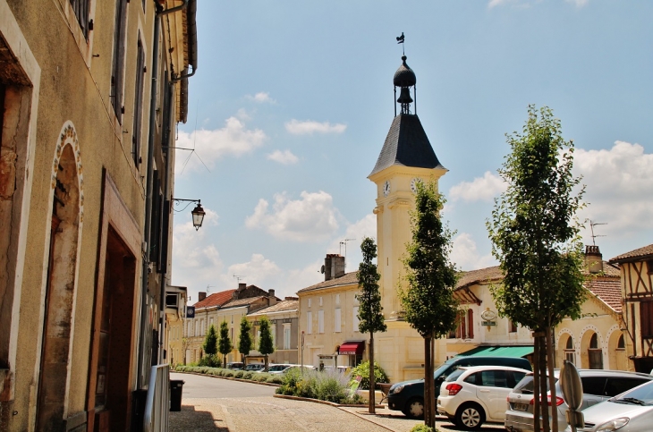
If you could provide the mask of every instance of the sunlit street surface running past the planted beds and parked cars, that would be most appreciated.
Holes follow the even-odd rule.
[[[184,381],[182,411],[170,412],[170,432],[408,432],[420,420],[399,411],[366,408],[338,409],[316,402],[273,398],[276,387],[217,377],[171,373]],[[462,431],[444,417],[437,418],[442,432]],[[505,430],[503,425],[483,425],[480,431]]]

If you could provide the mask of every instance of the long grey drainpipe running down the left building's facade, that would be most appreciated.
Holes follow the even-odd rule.
[[[141,286],[141,299],[140,299],[140,351],[139,351],[139,368],[138,386],[145,386],[148,382],[144,377],[145,365],[145,352],[148,347],[143,346],[146,332],[148,328],[148,275],[149,275],[149,246],[151,235],[151,218],[152,218],[152,177],[154,176],[154,144],[155,144],[155,131],[157,128],[157,77],[158,77],[158,53],[159,53],[159,38],[161,34],[161,17],[168,13],[175,13],[186,8],[190,0],[183,0],[183,4],[170,9],[162,10],[157,6],[157,13],[154,20],[154,43],[152,48],[152,87],[150,90],[150,103],[149,103],[149,131],[148,131],[148,171],[146,175],[146,198],[145,198],[145,221],[143,226],[143,268],[142,268],[142,286]],[[161,299],[162,302],[165,299]],[[161,306],[161,305],[159,305]],[[158,341],[157,341],[158,342]]]

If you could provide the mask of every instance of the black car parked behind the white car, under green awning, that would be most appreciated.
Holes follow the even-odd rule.
[[[454,357],[433,372],[435,380],[435,399],[440,394],[440,385],[454,370],[469,366],[510,366],[530,370],[530,361],[515,357]],[[420,419],[424,416],[424,378],[396,383],[387,394],[387,406],[390,410],[402,411],[407,417]]]

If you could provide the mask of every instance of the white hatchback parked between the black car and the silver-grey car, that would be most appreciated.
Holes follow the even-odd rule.
[[[452,372],[437,397],[437,412],[468,430],[484,422],[505,420],[506,397],[530,370],[508,366],[474,366]]]

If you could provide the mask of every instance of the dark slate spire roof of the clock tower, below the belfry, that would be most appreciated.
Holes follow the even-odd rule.
[[[399,114],[394,117],[381,154],[378,155],[377,165],[369,175],[377,174],[392,165],[445,169],[437,160],[436,152],[433,151],[417,114]]]

